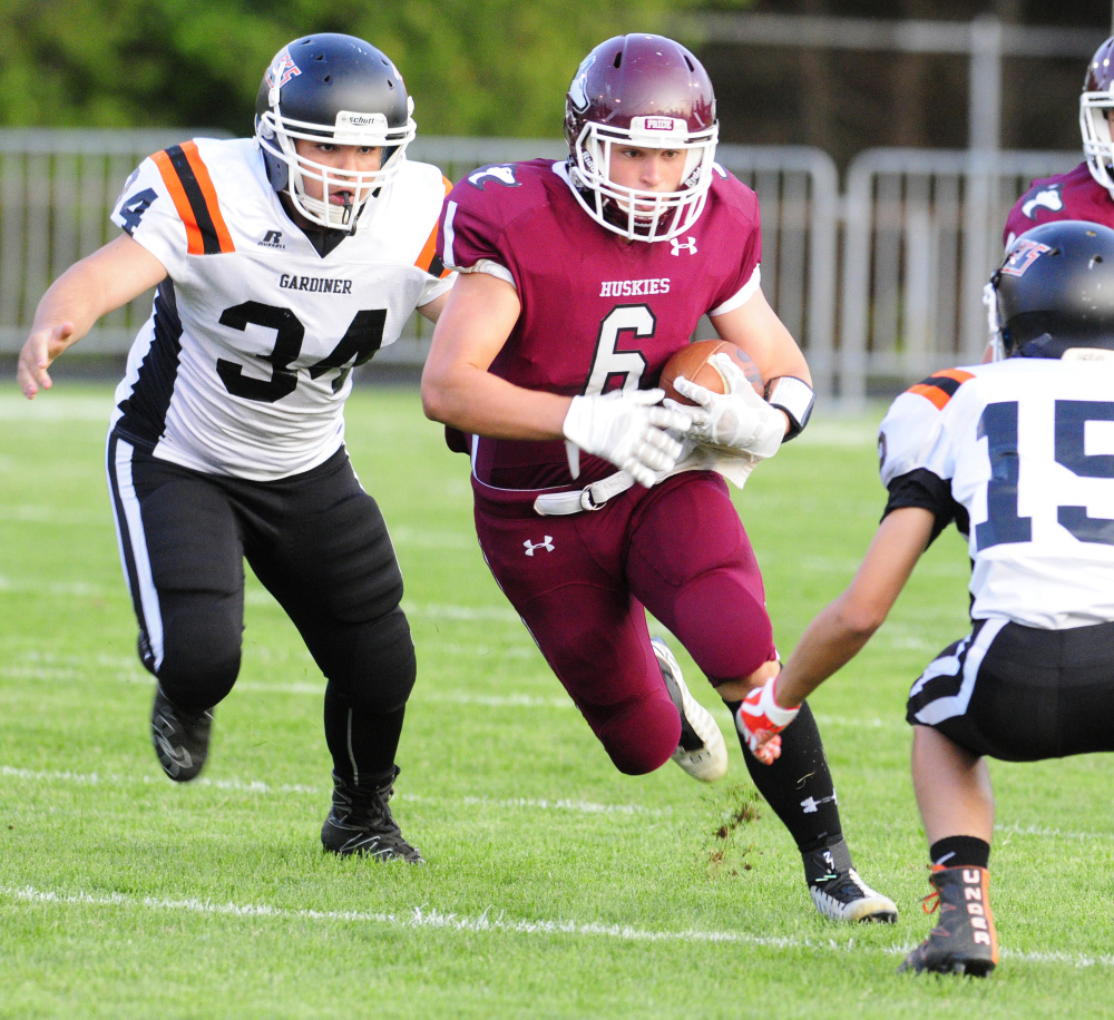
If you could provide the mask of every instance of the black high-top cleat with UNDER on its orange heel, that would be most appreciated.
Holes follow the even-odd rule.
[[[898,972],[985,978],[998,963],[989,872],[985,867],[940,867],[928,881],[936,892],[925,898],[925,912],[939,908],[939,923],[906,957]]]

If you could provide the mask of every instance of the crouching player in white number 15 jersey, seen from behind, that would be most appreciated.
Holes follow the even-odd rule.
[[[987,757],[1114,751],[1114,231],[1081,220],[1016,238],[990,281],[999,360],[937,372],[879,437],[889,501],[848,589],[740,709],[773,759],[801,700],[881,626],[955,521],[971,631],[909,694],[912,778],[940,920],[902,970],[984,975],[998,960]]]

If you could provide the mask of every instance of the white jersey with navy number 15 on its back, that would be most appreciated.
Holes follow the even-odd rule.
[[[938,372],[882,421],[888,509],[955,518],[974,619],[1114,621],[1114,363],[1103,355]]]

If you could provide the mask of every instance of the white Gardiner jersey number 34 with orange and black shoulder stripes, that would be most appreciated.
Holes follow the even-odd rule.
[[[145,159],[113,220],[167,271],[117,388],[113,428],[155,457],[256,481],[344,439],[352,367],[452,279],[436,256],[449,182],[405,163],[321,256],[254,139],[198,138]]]

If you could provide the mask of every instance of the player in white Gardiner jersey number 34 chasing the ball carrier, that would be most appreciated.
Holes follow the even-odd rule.
[[[246,558],[326,677],[334,795],[325,850],[420,862],[391,816],[417,667],[387,524],[344,449],[352,369],[452,276],[434,253],[448,182],[407,160],[413,101],[394,65],[342,35],[275,56],[255,136],[144,160],[124,233],[43,295],[19,356],[28,398],[106,313],[157,287],[116,392],[108,478],[152,738],[193,779],[241,661]]]

